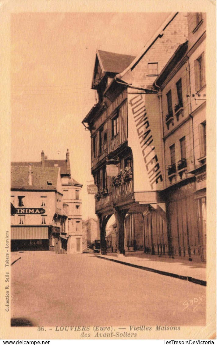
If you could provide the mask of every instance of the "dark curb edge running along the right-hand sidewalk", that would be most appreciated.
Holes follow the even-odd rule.
[[[155,269],[155,268],[134,265],[134,264],[131,264],[131,263],[128,263],[128,262],[119,261],[119,260],[116,260],[116,259],[110,259],[110,258],[102,257],[102,256],[99,256],[99,255],[96,255],[96,257],[98,257],[99,259],[117,262],[117,263],[122,264],[122,265],[136,267],[136,268],[144,269],[145,271],[154,272],[154,273],[158,273],[158,274],[162,274],[162,275],[165,275],[165,276],[169,276],[169,277],[173,277],[173,278],[178,278],[178,279],[182,279],[182,280],[187,280],[188,282],[191,282],[191,283],[195,283],[195,284],[206,286],[206,281],[205,280],[201,280],[201,279],[197,279],[197,278],[193,278],[193,277],[188,277],[188,276],[182,276],[182,275],[171,273],[171,272],[160,271],[160,270]]]

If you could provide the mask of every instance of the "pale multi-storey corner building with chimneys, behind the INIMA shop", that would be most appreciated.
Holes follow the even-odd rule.
[[[11,166],[29,166],[30,162],[12,162]],[[59,169],[60,187],[62,193],[62,212],[66,217],[60,233],[57,231],[50,235],[50,250],[60,252],[61,248],[67,253],[82,253],[82,201],[80,190],[82,185],[71,177],[69,150],[67,149],[66,160],[47,159],[44,152],[41,152],[41,161],[31,162],[32,169],[41,168],[47,171],[48,168]],[[47,177],[47,180],[49,178]]]

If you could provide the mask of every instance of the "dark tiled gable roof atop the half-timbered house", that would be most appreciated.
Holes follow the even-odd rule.
[[[104,72],[120,73],[135,59],[135,56],[111,53],[104,50],[98,50],[97,52]]]

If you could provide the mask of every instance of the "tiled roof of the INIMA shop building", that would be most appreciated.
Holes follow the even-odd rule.
[[[32,183],[29,184],[29,167],[27,165],[11,166],[11,188],[56,190],[59,174],[58,167],[31,167]]]

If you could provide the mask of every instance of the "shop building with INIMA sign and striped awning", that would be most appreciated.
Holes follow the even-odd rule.
[[[49,250],[53,243],[61,252],[62,196],[60,168],[11,167],[11,251]]]

